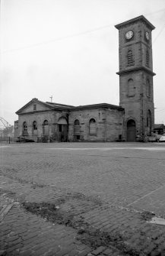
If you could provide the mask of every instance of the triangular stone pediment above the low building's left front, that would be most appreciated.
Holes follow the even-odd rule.
[[[51,109],[54,109],[51,105],[46,104],[45,102],[41,102],[40,100],[34,98],[30,102],[28,102],[26,105],[24,105],[21,109],[19,109],[16,114],[26,114],[31,112],[42,112],[42,111],[49,111]]]

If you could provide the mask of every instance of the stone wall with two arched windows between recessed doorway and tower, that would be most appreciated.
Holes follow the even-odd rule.
[[[90,120],[96,121],[96,132],[90,133]],[[75,136],[75,120],[80,122],[80,136]],[[116,141],[122,134],[123,113],[117,109],[81,109],[69,115],[69,141]]]

